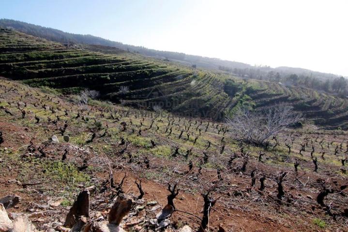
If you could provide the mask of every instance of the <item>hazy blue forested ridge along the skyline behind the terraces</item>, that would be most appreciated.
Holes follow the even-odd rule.
[[[30,23],[25,23],[12,19],[0,19],[0,27],[12,28],[21,31],[26,34],[33,36],[45,38],[47,40],[60,42],[60,43],[81,43],[81,44],[93,44],[93,45],[104,45],[117,47],[119,49],[136,52],[145,56],[157,57],[157,58],[167,58],[174,61],[181,62],[186,65],[196,65],[200,68],[206,69],[219,69],[220,67],[227,67],[228,69],[260,69],[267,72],[281,72],[284,74],[295,73],[297,75],[315,75],[318,78],[336,78],[335,74],[331,73],[320,73],[311,70],[301,69],[301,68],[291,68],[291,67],[255,67],[242,62],[222,60],[219,58],[208,58],[195,55],[188,55],[180,52],[169,52],[169,51],[158,51],[154,49],[145,48],[142,46],[134,46],[129,44],[123,44],[121,42],[110,41],[101,37],[93,35],[81,35],[64,32],[58,29],[46,28]]]

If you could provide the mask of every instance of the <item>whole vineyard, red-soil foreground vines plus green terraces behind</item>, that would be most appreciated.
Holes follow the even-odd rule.
[[[0,231],[347,231],[346,99],[9,29],[0,76]]]

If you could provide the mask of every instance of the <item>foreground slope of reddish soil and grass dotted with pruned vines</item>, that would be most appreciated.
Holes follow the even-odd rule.
[[[180,188],[169,232],[179,232],[184,224],[197,231],[201,194],[208,191],[216,199],[211,231],[219,225],[226,231],[347,231],[347,165],[341,165],[347,159],[347,132],[291,130],[277,135],[277,146],[272,141],[263,150],[231,139],[226,128],[95,100],[81,107],[76,96],[0,78],[0,199],[19,195],[22,200],[8,212],[27,215],[40,231],[69,231],[61,228],[62,222],[86,187],[96,188],[90,219],[107,220],[118,191],[110,183],[111,169],[116,186],[126,175],[121,190],[135,198],[135,181],[142,181],[145,194],[122,221],[129,232],[139,226],[154,231],[151,220],[167,203],[168,183]],[[64,141],[63,135],[69,139]],[[304,142],[306,151],[299,154]],[[318,158],[317,172],[313,157]],[[293,171],[295,161],[298,172]],[[285,195],[278,199],[282,172],[287,173]],[[254,186],[250,173],[255,174]],[[258,181],[262,176],[264,189]],[[333,189],[325,202],[335,216],[316,201],[323,187]]]

